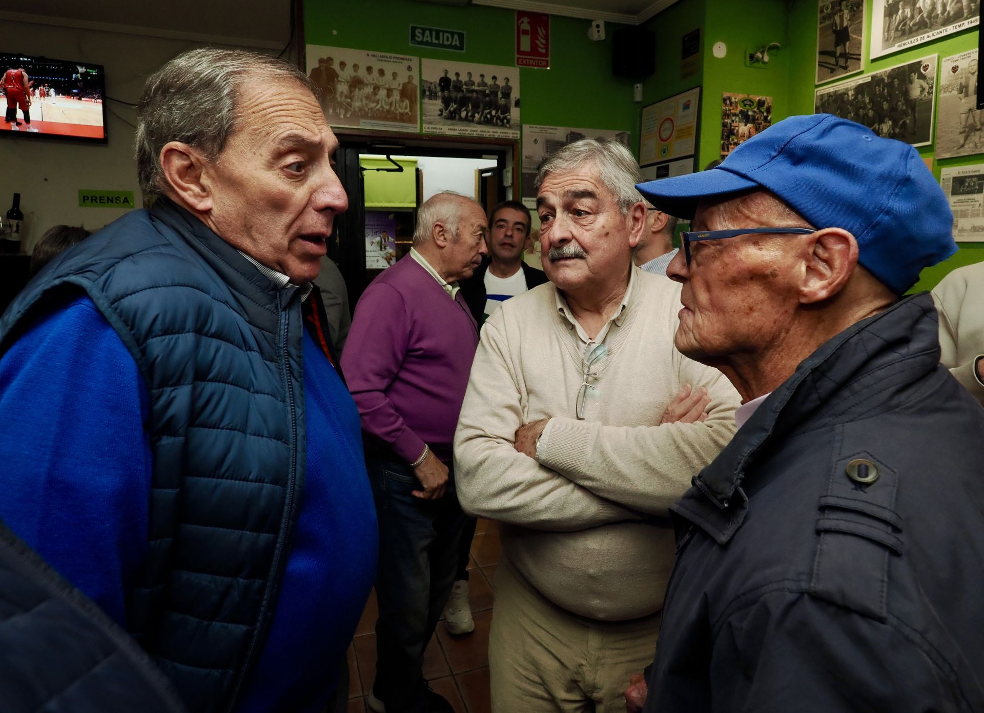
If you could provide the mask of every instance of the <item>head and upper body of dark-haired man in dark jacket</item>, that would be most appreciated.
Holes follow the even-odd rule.
[[[461,294],[479,325],[499,303],[547,282],[542,270],[523,262],[528,234],[529,209],[522,203],[504,201],[492,209],[485,238],[489,258],[474,275],[461,281]]]

